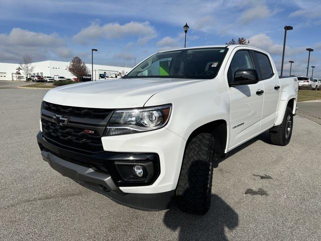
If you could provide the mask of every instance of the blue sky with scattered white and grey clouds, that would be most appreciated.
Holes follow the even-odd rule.
[[[149,55],[184,47],[221,45],[244,37],[268,51],[280,74],[284,26],[284,72],[321,78],[320,0],[0,0],[0,62],[70,61],[132,67]],[[136,58],[136,60],[134,59]],[[309,75],[311,68],[309,69]]]

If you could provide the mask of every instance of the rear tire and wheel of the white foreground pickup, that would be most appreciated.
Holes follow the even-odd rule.
[[[286,146],[289,144],[293,129],[293,114],[290,107],[286,107],[281,125],[270,129],[270,140],[273,145]]]

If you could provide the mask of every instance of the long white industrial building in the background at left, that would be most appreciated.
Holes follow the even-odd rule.
[[[69,62],[62,62],[62,61],[41,61],[33,63],[35,66],[35,70],[32,74],[41,75],[41,76],[64,76],[66,78],[73,79],[73,76],[68,71]],[[91,64],[86,64],[88,69],[91,72]],[[25,80],[26,77],[24,73],[21,73],[23,76],[17,76],[17,68],[19,64],[13,63],[0,63],[0,80]],[[109,66],[109,65],[93,65],[93,73],[94,79],[99,79],[99,74],[106,73],[107,76],[113,76],[115,74],[126,73],[131,68],[126,67],[118,67],[118,66]],[[29,77],[29,76],[28,76]]]

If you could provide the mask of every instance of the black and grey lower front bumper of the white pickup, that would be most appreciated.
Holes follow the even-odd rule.
[[[151,194],[124,193],[120,190],[117,185],[118,183],[114,181],[112,175],[107,172],[101,172],[101,170],[98,170],[94,166],[87,165],[88,161],[93,164],[101,164],[101,162],[119,161],[121,157],[123,157],[123,160],[127,160],[126,154],[103,152],[99,155],[86,155],[73,152],[47,142],[41,132],[37,135],[37,141],[43,159],[57,172],[73,179],[82,186],[101,193],[117,203],[132,208],[154,211],[164,210],[170,207],[175,195],[175,190]],[[150,154],[133,155],[142,155],[139,157],[141,159]],[[133,155],[131,155],[131,159]],[[78,160],[79,163],[75,163],[75,160]]]

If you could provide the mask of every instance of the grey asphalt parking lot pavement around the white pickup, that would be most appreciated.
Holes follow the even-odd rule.
[[[145,212],[42,160],[36,134],[46,91],[0,88],[0,240],[321,240],[320,125],[296,115],[286,147],[263,133],[233,151],[214,169],[204,216]]]

